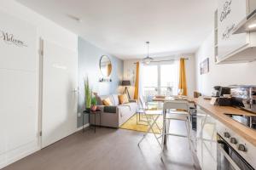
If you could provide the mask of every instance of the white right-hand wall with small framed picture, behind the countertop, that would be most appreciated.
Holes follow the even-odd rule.
[[[199,65],[204,59],[210,59],[210,71],[200,75]],[[212,87],[234,84],[256,85],[256,62],[244,64],[216,65],[214,63],[214,34],[201,44],[195,54],[196,89],[205,95],[212,95]]]

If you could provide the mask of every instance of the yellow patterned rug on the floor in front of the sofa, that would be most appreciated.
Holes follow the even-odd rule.
[[[156,117],[156,116],[154,116]],[[141,120],[146,121],[147,119],[145,117],[141,118]],[[161,116],[158,118],[157,120],[157,124],[160,128],[162,128],[163,125],[163,121]],[[123,125],[121,125],[120,128],[123,129],[128,129],[128,130],[134,130],[134,131],[138,131],[138,132],[148,132],[148,125],[147,122],[138,122],[137,124],[137,114],[134,114],[133,116],[131,116],[131,118],[126,121]],[[154,133],[161,133],[159,128],[154,124]],[[152,130],[150,131],[150,133],[153,133]]]

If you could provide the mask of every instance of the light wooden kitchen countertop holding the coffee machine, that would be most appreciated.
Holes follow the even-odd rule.
[[[201,106],[201,109],[203,111],[206,111],[209,115],[216,118],[219,122],[224,123],[224,125],[230,127],[231,130],[233,130],[244,139],[247,139],[248,142],[256,146],[256,130],[246,127],[241,123],[236,122],[230,117],[224,115],[224,113],[232,113],[237,115],[253,115],[252,113],[242,111],[240,109],[236,109],[235,107],[230,106],[211,105],[209,99],[203,99],[202,97],[191,100],[194,100],[196,105]]]

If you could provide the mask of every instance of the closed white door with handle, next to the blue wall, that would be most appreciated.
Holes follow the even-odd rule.
[[[42,147],[77,128],[78,54],[43,41]]]

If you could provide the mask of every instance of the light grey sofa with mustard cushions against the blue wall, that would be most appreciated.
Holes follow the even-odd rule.
[[[103,99],[109,98],[113,105],[106,106],[102,104]],[[96,96],[97,108],[102,110],[101,126],[120,127],[137,111],[137,100],[130,100],[129,103],[119,105],[118,94]],[[94,124],[94,116],[90,116],[90,124]],[[96,125],[100,125],[100,117],[96,116]]]

